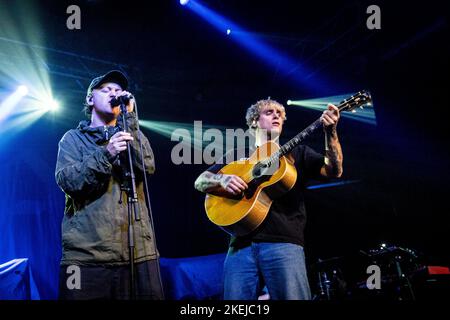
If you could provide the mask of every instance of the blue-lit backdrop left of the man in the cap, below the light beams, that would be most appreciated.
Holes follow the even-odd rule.
[[[38,131],[0,145],[0,264],[28,258],[41,299],[55,299],[64,195],[54,179],[57,141],[44,143]]]

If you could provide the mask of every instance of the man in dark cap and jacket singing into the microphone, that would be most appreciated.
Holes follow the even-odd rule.
[[[120,71],[94,78],[87,90],[84,109],[90,121],[81,121],[59,142],[55,177],[66,195],[60,299],[133,297],[128,198],[124,191],[125,167],[129,163],[128,153],[124,151],[128,145],[140,216],[133,222],[135,297],[163,299],[158,252],[143,186],[144,175],[155,171],[155,162],[148,139],[137,130],[135,102],[127,87],[128,80]],[[112,101],[125,101],[126,114]],[[129,132],[123,131],[124,121]]]

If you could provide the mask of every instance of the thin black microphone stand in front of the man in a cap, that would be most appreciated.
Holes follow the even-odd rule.
[[[121,101],[120,110],[123,115],[123,131],[128,132],[128,124],[126,119],[127,106]],[[134,221],[141,220],[139,210],[137,210],[136,204],[138,202],[138,196],[136,192],[136,177],[133,169],[133,158],[131,155],[131,142],[127,141],[127,154],[128,154],[128,170],[125,170],[125,177],[128,179],[128,184],[124,188],[127,194],[127,207],[128,207],[128,250],[130,259],[130,295],[131,300],[136,299],[135,291],[135,267],[134,267]],[[134,219],[132,213],[134,212]]]

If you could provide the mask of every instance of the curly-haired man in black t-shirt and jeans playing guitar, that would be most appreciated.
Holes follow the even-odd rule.
[[[286,112],[280,103],[260,100],[248,108],[246,121],[254,131],[256,146],[278,141]],[[339,109],[328,105],[320,117],[325,132],[325,156],[308,146],[297,145],[289,154],[298,172],[293,187],[274,199],[264,221],[246,235],[234,235],[224,263],[224,299],[256,300],[266,286],[271,299],[309,300],[311,292],[305,266],[303,199],[310,178],[340,177],[342,150],[336,125]],[[225,164],[215,164],[195,181],[201,192],[233,198],[249,185],[238,175],[222,174]]]

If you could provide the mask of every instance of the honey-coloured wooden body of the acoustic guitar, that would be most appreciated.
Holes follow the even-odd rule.
[[[249,159],[231,162],[219,171],[239,176],[249,189],[234,199],[208,194],[205,210],[214,224],[231,235],[246,235],[264,221],[273,199],[292,189],[297,170],[291,158],[280,157],[278,166],[275,164],[264,175],[255,175],[255,165],[279,149],[278,144],[269,141],[258,147]]]

